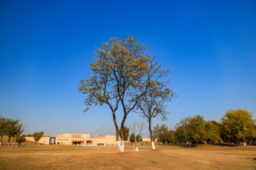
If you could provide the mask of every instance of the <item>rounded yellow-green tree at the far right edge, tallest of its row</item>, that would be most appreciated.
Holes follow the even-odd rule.
[[[243,142],[245,146],[256,136],[255,122],[247,110],[227,110],[221,118],[221,136],[229,142]]]

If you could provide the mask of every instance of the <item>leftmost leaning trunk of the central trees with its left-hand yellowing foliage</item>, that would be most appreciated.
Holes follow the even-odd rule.
[[[108,44],[103,44],[106,46]],[[86,80],[81,80],[80,85],[77,86],[79,92],[86,95],[84,104],[86,105],[85,111],[88,111],[90,106],[102,106],[107,104],[111,110],[113,116],[113,122],[116,130],[116,141],[118,143],[118,149],[120,150],[119,136],[118,136],[118,125],[116,123],[116,110],[120,97],[116,92],[116,83],[112,81],[111,76],[113,73],[109,67],[108,60],[100,55],[100,49],[97,49],[95,62],[90,64],[92,67],[93,74]]]

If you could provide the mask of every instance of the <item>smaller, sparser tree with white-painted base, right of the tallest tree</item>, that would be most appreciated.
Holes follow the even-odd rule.
[[[168,73],[166,73],[166,75],[168,75]],[[156,149],[151,128],[152,118],[158,117],[161,120],[166,120],[168,112],[165,110],[166,106],[164,106],[164,103],[172,101],[172,98],[176,96],[167,86],[168,81],[165,83],[159,81],[150,83],[147,93],[140,97],[135,111],[141,113],[143,118],[148,122],[152,149]]]

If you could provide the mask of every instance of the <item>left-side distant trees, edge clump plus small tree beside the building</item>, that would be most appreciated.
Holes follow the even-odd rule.
[[[25,136],[31,136],[34,137],[35,143],[39,141],[42,136],[44,136],[44,132],[34,132],[34,134],[29,135],[22,135],[22,132],[24,132],[24,125],[20,123],[20,120],[13,120],[11,118],[4,118],[0,115],[0,145],[2,143],[2,139],[4,136],[8,137],[8,143],[7,145],[10,145],[10,141],[12,139],[12,144],[15,143],[22,143],[26,141]]]

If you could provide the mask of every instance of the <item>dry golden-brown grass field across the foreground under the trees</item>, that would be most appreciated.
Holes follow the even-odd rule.
[[[255,146],[0,146],[0,169],[256,169]]]

